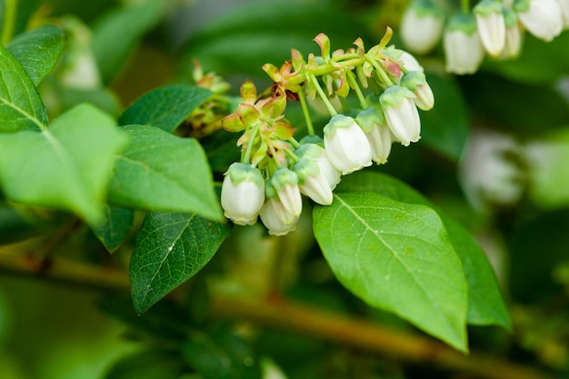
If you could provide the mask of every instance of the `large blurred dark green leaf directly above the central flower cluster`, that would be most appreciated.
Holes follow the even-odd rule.
[[[321,32],[330,37],[333,50],[354,47],[357,37],[366,40],[364,24],[334,4],[255,2],[236,7],[191,35],[184,48],[188,59],[199,59],[208,71],[266,78],[261,67],[267,62],[280,66],[291,58],[291,48],[305,57],[318,53],[313,38]]]

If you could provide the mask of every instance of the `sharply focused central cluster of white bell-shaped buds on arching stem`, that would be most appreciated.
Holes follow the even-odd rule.
[[[222,185],[227,218],[255,224],[260,216],[269,234],[287,234],[302,213],[302,194],[332,204],[342,175],[384,164],[394,142],[419,140],[417,108],[433,107],[433,91],[413,55],[387,45],[391,36],[388,28],[367,51],[358,38],[355,47],[332,52],[320,34],[314,41],[321,55],[304,59],[293,49],[280,68],[263,66],[274,82],[267,91],[258,94],[245,81],[236,112],[222,120],[225,130],[243,134],[237,142],[241,161],[229,167]],[[347,101],[350,95],[358,105]],[[298,101],[304,112],[308,135],[300,141],[284,117],[288,101]],[[331,117],[322,136],[314,133],[309,104]]]

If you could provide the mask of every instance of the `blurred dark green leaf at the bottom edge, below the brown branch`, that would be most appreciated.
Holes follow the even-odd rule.
[[[204,379],[261,379],[255,354],[234,334],[195,333],[182,352],[188,364]]]

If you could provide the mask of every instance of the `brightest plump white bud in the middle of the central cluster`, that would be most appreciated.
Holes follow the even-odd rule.
[[[343,175],[372,165],[372,147],[354,118],[334,115],[324,126],[324,150]]]

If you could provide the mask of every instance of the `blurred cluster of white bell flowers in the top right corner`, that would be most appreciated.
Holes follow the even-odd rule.
[[[446,70],[474,74],[484,55],[514,58],[520,54],[524,32],[551,41],[569,28],[569,0],[480,0],[471,9],[462,0],[460,12],[437,0],[413,0],[401,25],[404,45],[426,54],[443,39]]]

